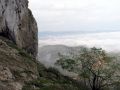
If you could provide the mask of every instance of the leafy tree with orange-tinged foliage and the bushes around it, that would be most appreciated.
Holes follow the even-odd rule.
[[[59,56],[56,64],[77,73],[79,81],[90,90],[120,89],[120,63],[101,48],[83,48],[79,55]]]

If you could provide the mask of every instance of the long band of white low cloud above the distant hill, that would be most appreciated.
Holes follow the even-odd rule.
[[[84,45],[102,47],[107,51],[120,51],[120,32],[80,34],[67,36],[50,36],[39,40],[39,46],[63,44],[68,46]]]

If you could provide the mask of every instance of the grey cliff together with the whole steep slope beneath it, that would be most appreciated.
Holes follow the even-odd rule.
[[[28,1],[0,0],[0,90],[78,90],[74,81],[35,60],[37,42]]]

